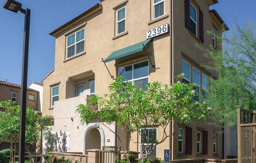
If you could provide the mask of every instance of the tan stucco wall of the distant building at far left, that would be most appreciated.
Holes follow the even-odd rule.
[[[20,105],[21,89],[16,87],[9,87],[6,85],[0,85],[0,101],[11,100],[11,92],[17,93],[17,105]],[[34,100],[29,100],[29,95],[34,96]],[[37,110],[38,106],[38,92],[27,90],[27,107]]]

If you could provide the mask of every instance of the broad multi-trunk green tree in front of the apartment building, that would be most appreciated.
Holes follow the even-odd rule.
[[[182,74],[184,75],[184,74]],[[181,78],[179,75],[178,78]],[[139,143],[143,147],[142,158],[146,160],[153,152],[154,148],[165,141],[171,135],[166,132],[170,120],[187,123],[192,120],[205,120],[207,108],[205,102],[193,101],[195,91],[192,84],[181,82],[172,85],[163,85],[160,82],[148,83],[148,90],[137,89],[131,82],[124,82],[123,77],[118,77],[110,84],[109,94],[104,97],[97,95],[87,98],[88,105],[80,104],[76,112],[80,114],[80,121],[88,125],[92,120],[98,120],[98,125],[104,125],[111,132],[108,125],[117,125],[123,131],[131,134],[138,132],[144,143]],[[146,134],[146,128],[160,128],[163,136]],[[126,154],[124,145],[118,134],[117,138]],[[132,140],[131,140],[132,141]],[[128,156],[128,155],[127,155]],[[130,161],[127,157],[126,159]]]

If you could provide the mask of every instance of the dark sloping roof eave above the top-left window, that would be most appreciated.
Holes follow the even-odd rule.
[[[51,33],[49,33],[49,35],[51,36],[56,36],[60,31],[62,31],[63,29],[65,29],[66,27],[68,27],[70,24],[76,22],[77,20],[79,20],[80,18],[86,16],[87,14],[90,14],[91,12],[97,10],[97,9],[102,9],[102,5],[101,4],[96,4],[93,7],[91,7],[90,9],[84,11],[82,14],[78,15],[77,17],[73,18],[72,20],[66,22],[65,24],[61,25],[60,27],[58,27],[57,29],[53,30]]]

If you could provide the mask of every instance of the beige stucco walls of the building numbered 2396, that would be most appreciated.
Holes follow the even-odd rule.
[[[75,87],[69,87],[68,80],[71,76],[79,75],[83,72],[92,71],[95,78],[95,94],[102,96],[108,93],[108,85],[113,82],[108,74],[104,63],[101,62],[101,58],[107,58],[113,51],[122,49],[129,45],[146,40],[146,31],[158,27],[163,24],[170,24],[170,4],[169,1],[165,1],[165,14],[169,16],[160,20],[158,22],[148,25],[148,22],[152,20],[152,0],[129,0],[126,3],[126,31],[128,34],[113,40],[115,36],[115,10],[112,9],[115,5],[123,2],[123,0],[105,0],[102,2],[103,8],[94,14],[86,17],[77,24],[73,24],[72,27],[65,29],[56,36],[55,44],[55,70],[43,81],[44,82],[44,98],[43,98],[43,115],[53,115],[55,118],[55,125],[53,130],[70,130],[71,139],[70,141],[70,151],[81,152],[83,148],[82,141],[84,132],[86,130],[86,125],[79,124],[79,115],[75,114],[75,107],[79,102],[84,102],[82,97],[73,97],[73,92]],[[206,1],[195,0],[204,13],[204,31],[211,30],[214,22],[215,25],[219,25],[218,21],[210,16],[208,9],[209,6]],[[120,7],[122,7],[121,5]],[[142,7],[143,6],[143,7]],[[170,63],[170,35],[165,34],[153,39],[152,43],[148,44],[146,50],[149,53],[150,59],[156,65],[157,69],[153,69],[149,64],[149,82],[161,81],[164,84],[170,84],[170,66],[172,66],[173,76],[181,73],[181,60],[183,56],[181,53],[186,54],[188,57],[193,58],[194,62],[198,65],[208,63],[208,61],[203,57],[203,53],[197,49],[194,43],[198,40],[192,36],[189,31],[185,28],[185,9],[183,0],[174,0],[173,2],[173,64]],[[82,25],[85,22],[86,25]],[[75,32],[76,27],[85,27],[85,54],[73,58],[67,62],[65,60],[66,54],[66,36]],[[171,24],[170,24],[171,25]],[[71,26],[71,25],[70,25]],[[81,27],[81,28],[82,28]],[[219,29],[218,29],[219,30]],[[218,31],[217,31],[218,32]],[[212,43],[211,36],[205,34],[205,43],[202,44],[204,47],[208,47]],[[118,67],[129,65],[132,63],[141,62],[147,60],[144,52],[133,54],[112,62],[106,63],[110,73],[117,76]],[[197,66],[197,65],[195,65]],[[197,67],[200,69],[200,67]],[[207,74],[207,72],[203,73]],[[212,73],[212,72],[211,72]],[[214,73],[213,73],[214,74]],[[208,74],[209,75],[209,74]],[[216,74],[214,74],[216,75]],[[50,85],[56,82],[60,82],[60,95],[59,100],[56,105],[50,108],[51,99],[51,87]],[[85,82],[87,83],[87,82]],[[85,97],[84,97],[85,98]],[[65,100],[66,99],[66,100]],[[75,105],[76,104],[76,105]],[[71,122],[71,118],[74,118]],[[92,122],[94,124],[95,121]],[[65,124],[65,125],[64,125]],[[65,127],[63,127],[65,126]],[[79,129],[77,129],[77,126]],[[208,142],[209,149],[208,155],[202,156],[207,158],[221,158],[222,151],[221,141],[218,141],[218,153],[219,157],[213,157],[213,152],[211,150],[212,138],[214,128],[205,125],[204,123],[193,123],[193,132],[196,132],[196,127],[204,127],[208,130]],[[114,130],[114,126],[111,126]],[[104,128],[104,127],[102,127]],[[173,126],[173,140],[172,140],[172,158],[177,158],[177,129],[178,126]],[[113,146],[115,142],[115,136],[109,130],[104,130],[105,134],[105,145]],[[169,132],[169,127],[167,127],[167,132]],[[122,138],[128,138],[127,133],[121,132]],[[161,136],[162,130],[159,128],[157,130],[158,136]],[[219,138],[220,137],[220,138]],[[107,142],[107,139],[110,142]],[[132,134],[133,141],[139,140],[139,135],[137,133]],[[218,136],[218,140],[221,140],[221,136]],[[196,141],[196,139],[195,139]],[[81,142],[81,143],[79,143]],[[126,145],[128,142],[126,142]],[[117,142],[120,145],[120,142]],[[193,149],[195,149],[195,143],[193,143]],[[163,150],[169,149],[169,139],[166,139],[164,143],[158,145],[157,147],[157,157],[163,158]],[[138,143],[130,144],[130,150],[140,150]],[[191,156],[187,158],[196,157],[194,152]],[[200,156],[201,157],[201,156]]]

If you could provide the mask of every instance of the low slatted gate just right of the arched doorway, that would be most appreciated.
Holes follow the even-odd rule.
[[[99,151],[99,163],[115,163],[115,159],[120,159],[121,147],[103,146]]]

